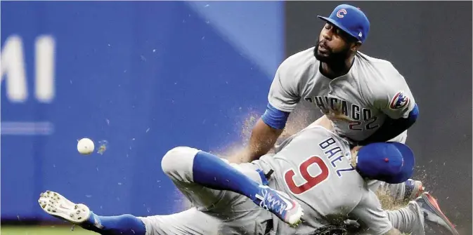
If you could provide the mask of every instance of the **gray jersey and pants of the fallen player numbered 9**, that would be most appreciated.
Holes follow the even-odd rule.
[[[230,165],[260,184],[258,169],[265,173],[275,170],[270,187],[292,195],[304,208],[302,219],[305,222],[299,227],[289,227],[245,196],[208,189],[189,181],[193,177],[193,157],[199,150],[177,147],[163,157],[162,168],[195,207],[172,215],[139,217],[147,234],[266,234],[271,218],[273,231],[268,233],[271,235],[309,234],[346,218],[364,224],[369,228],[367,234],[384,234],[391,229],[391,224],[406,231],[423,231],[418,206],[381,209],[375,194],[351,168],[348,143],[335,133],[320,126],[309,126],[288,138],[282,147],[277,154],[262,156],[252,163]],[[414,216],[407,210],[415,210]]]

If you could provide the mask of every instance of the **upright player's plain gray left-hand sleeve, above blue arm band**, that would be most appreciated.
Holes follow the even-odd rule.
[[[269,104],[283,112],[292,112],[300,100],[295,69],[297,65],[294,65],[292,58],[287,58],[278,67],[269,89]]]

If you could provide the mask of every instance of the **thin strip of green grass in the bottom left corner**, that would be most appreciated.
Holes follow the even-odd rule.
[[[72,226],[6,226],[2,225],[0,228],[1,235],[91,235],[96,234],[92,231],[87,231],[81,227]]]

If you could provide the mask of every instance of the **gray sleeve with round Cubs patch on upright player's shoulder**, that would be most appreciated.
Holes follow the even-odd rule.
[[[407,118],[415,106],[413,94],[399,72],[393,68],[388,69],[387,81],[382,89],[377,89],[375,94],[375,106],[381,109],[391,119]]]

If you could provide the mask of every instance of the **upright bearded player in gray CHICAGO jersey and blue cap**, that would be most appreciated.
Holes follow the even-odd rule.
[[[248,148],[232,162],[250,162],[266,154],[299,102],[320,109],[322,119],[330,119],[334,132],[351,145],[406,142],[407,129],[419,111],[406,80],[391,62],[358,51],[368,36],[368,18],[346,4],[329,17],[318,17],[326,23],[316,46],[278,67],[266,112],[254,126]],[[381,184],[372,182],[372,189]],[[423,190],[422,182],[415,180],[384,187],[398,200],[415,199]]]

